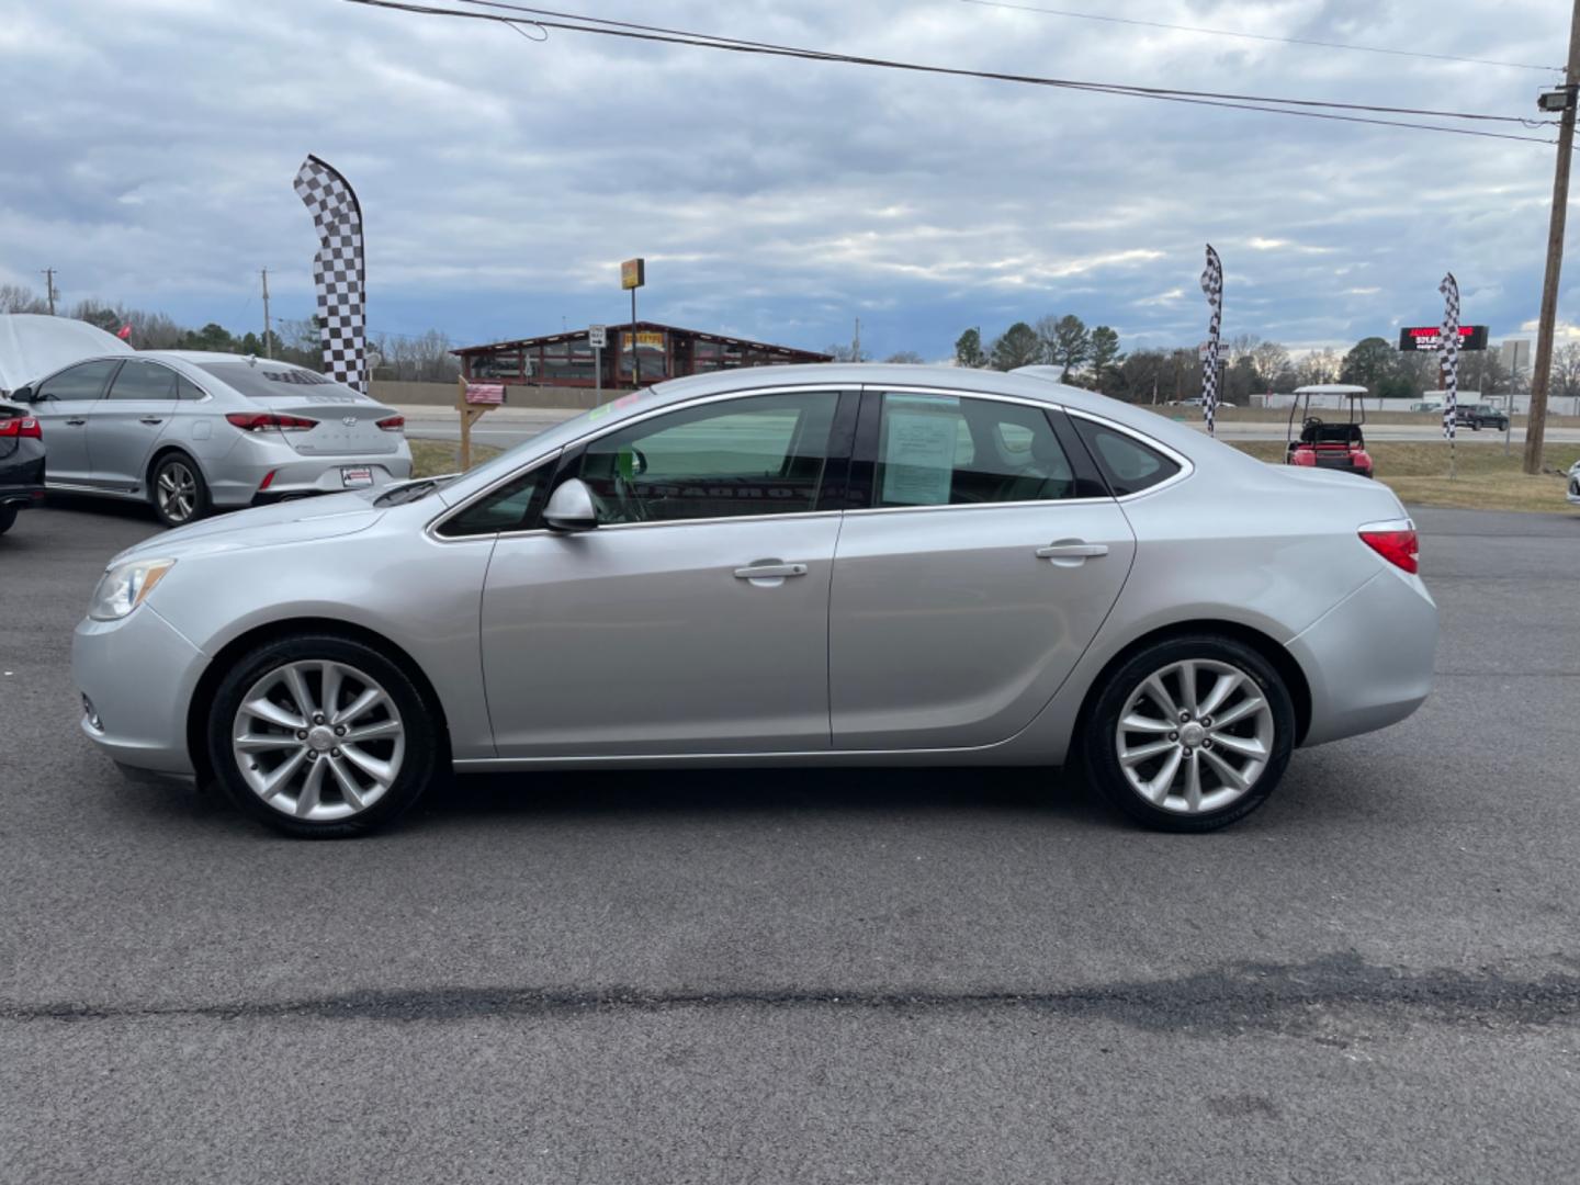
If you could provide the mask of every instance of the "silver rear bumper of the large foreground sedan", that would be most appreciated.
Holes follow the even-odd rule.
[[[1420,577],[1392,567],[1289,641],[1311,690],[1304,744],[1386,728],[1431,690],[1438,605]]]

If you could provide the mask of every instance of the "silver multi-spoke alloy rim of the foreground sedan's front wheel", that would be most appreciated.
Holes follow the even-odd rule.
[[[406,728],[389,694],[341,662],[291,662],[251,686],[231,752],[264,803],[333,822],[360,814],[400,776]]]

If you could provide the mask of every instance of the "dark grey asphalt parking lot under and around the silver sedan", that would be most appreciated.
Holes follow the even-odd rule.
[[[3,1182],[1572,1182],[1580,515],[1417,514],[1433,698],[1206,837],[1036,773],[125,784],[0,537]]]

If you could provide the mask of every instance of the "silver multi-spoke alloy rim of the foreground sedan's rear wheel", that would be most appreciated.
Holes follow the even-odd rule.
[[[1273,713],[1239,667],[1187,659],[1131,692],[1114,743],[1136,793],[1163,811],[1198,815],[1256,785],[1273,749]]]

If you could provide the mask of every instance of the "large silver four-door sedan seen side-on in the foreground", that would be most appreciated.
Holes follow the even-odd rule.
[[[1038,378],[822,365],[156,536],[73,670],[115,762],[297,836],[452,768],[698,765],[1071,765],[1206,831],[1409,716],[1436,634],[1382,485]]]

